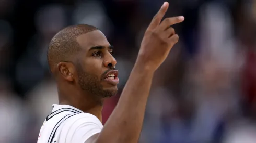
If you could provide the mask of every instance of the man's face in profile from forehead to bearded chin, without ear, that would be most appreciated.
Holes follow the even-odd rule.
[[[77,42],[82,48],[76,64],[80,87],[97,97],[117,94],[117,61],[112,56],[112,46],[104,34],[99,30],[88,32],[78,36]]]

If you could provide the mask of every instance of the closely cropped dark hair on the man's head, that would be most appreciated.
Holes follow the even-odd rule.
[[[72,25],[58,32],[51,40],[48,49],[48,64],[51,72],[61,61],[70,61],[74,59],[75,54],[80,51],[80,45],[77,37],[98,30],[96,27],[87,24]]]

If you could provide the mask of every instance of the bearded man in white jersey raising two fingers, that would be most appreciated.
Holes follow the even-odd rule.
[[[137,142],[154,72],[166,59],[178,35],[170,25],[184,17],[161,21],[169,4],[162,5],[147,28],[141,49],[118,105],[104,127],[103,100],[117,93],[117,61],[104,34],[91,25],[75,25],[57,33],[48,61],[59,93],[59,105],[44,121],[39,143]]]

